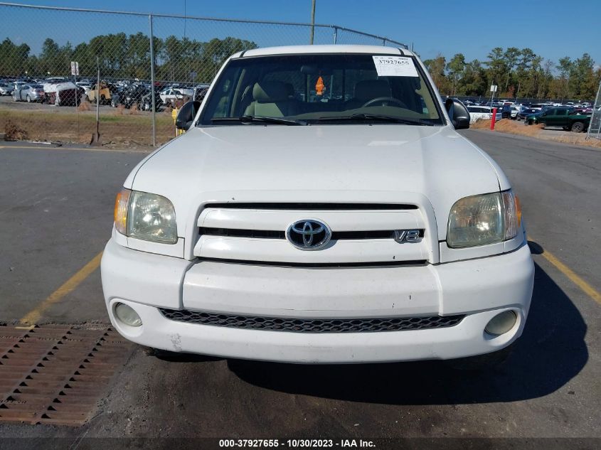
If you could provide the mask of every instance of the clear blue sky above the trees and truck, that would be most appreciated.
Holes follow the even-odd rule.
[[[155,14],[184,14],[185,3],[190,16],[292,22],[309,22],[311,10],[311,0],[30,0],[21,3]],[[532,48],[554,61],[565,55],[578,58],[587,52],[600,65],[601,28],[595,25],[595,18],[601,16],[601,0],[580,0],[577,4],[578,7],[572,8],[566,0],[317,0],[316,23],[334,23],[408,45],[413,43],[422,59],[440,52],[447,58],[454,53],[464,53],[467,60],[484,60],[493,47],[514,46]],[[26,10],[16,11],[23,14]],[[94,22],[75,14],[52,16],[50,21],[38,11],[27,15],[33,16],[28,25],[27,21],[9,20],[9,16],[1,14],[0,39],[9,37],[27,42],[36,51],[39,42],[50,34],[59,43],[78,43],[95,33],[130,33],[147,28],[147,19],[137,17]],[[50,28],[48,23],[56,26]],[[183,21],[166,19],[155,28],[161,37],[181,36]],[[288,37],[284,31],[272,28],[237,26],[230,29],[225,23],[211,28],[186,21],[186,35],[199,40],[205,40],[211,33],[218,37],[236,36],[250,30],[252,40],[259,45],[277,45]],[[294,38],[293,43],[303,43],[307,34],[300,28],[286,33]],[[320,38],[329,40],[330,31],[321,31]]]

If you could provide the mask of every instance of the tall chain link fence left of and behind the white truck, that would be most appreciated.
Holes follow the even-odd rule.
[[[97,110],[105,144],[156,146],[174,136],[172,109],[202,100],[240,50],[308,44],[311,34],[315,44],[406,48],[335,25],[4,2],[0,16],[0,129],[16,139],[89,141]]]

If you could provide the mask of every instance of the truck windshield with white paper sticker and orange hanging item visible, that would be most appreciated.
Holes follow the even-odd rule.
[[[280,120],[254,120],[265,117]],[[230,60],[198,123],[433,125],[441,117],[413,58],[336,53]]]

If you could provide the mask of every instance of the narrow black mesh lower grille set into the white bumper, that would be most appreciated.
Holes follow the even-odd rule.
[[[289,331],[292,333],[366,333],[446,328],[457,325],[465,317],[288,318],[240,316],[185,309],[160,308],[159,311],[166,318],[178,322],[248,330]]]

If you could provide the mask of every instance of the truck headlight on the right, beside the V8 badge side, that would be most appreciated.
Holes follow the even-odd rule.
[[[515,237],[520,225],[521,208],[513,192],[472,195],[451,208],[447,245],[461,248],[503,242]]]

